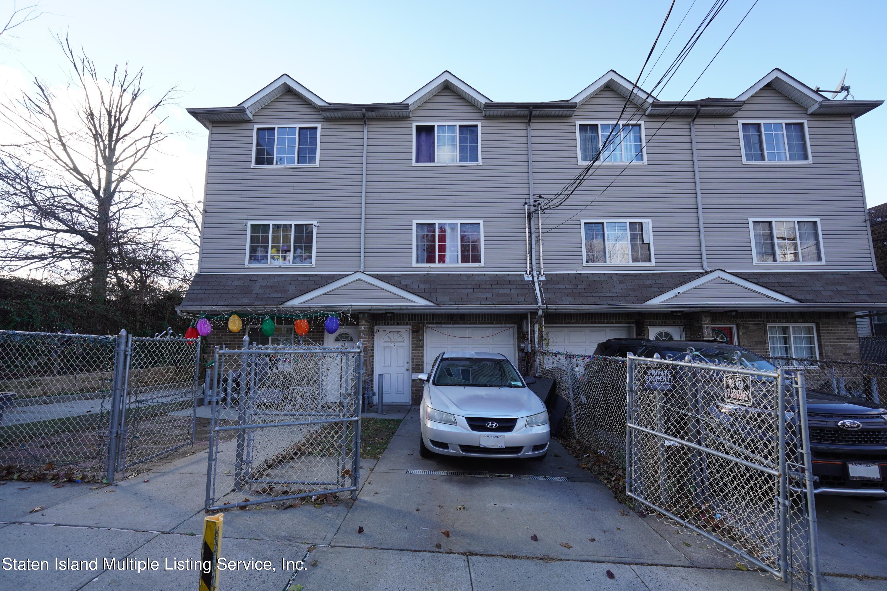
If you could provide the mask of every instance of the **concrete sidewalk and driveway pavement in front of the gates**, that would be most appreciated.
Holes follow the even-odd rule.
[[[705,548],[698,538],[655,517],[639,517],[578,469],[577,460],[557,442],[543,462],[424,460],[418,433],[413,410],[378,463],[361,461],[361,489],[353,505],[343,500],[319,509],[306,503],[294,509],[259,505],[226,511],[223,555],[271,560],[273,570],[223,572],[220,588],[283,591],[293,583],[305,591],[791,588],[757,572],[736,570],[734,557]],[[0,569],[0,589],[196,587],[197,572],[162,568],[164,558],[200,554],[206,467],[207,452],[200,450],[117,486],[55,488],[15,481],[0,486],[0,560],[98,558],[100,567]],[[239,495],[232,494],[232,499],[239,501]],[[846,503],[858,509],[848,514],[841,509]],[[820,533],[825,571],[859,570],[853,574],[874,576],[883,572],[883,533],[877,530],[884,525],[883,504],[823,503],[820,520],[830,525],[828,533]],[[358,533],[360,527],[363,533]],[[854,559],[849,540],[860,536],[867,546],[861,558]],[[159,560],[161,570],[101,568],[103,558],[112,556]],[[304,558],[306,568],[284,568],[283,558]],[[885,584],[885,579],[825,579],[828,590],[874,591]]]

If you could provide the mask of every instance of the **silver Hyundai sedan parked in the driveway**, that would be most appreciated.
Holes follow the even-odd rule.
[[[448,352],[437,356],[420,404],[419,454],[542,459],[548,412],[505,355]]]

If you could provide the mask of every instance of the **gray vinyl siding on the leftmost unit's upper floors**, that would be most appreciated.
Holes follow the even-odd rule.
[[[253,168],[253,128],[316,124],[319,167]],[[360,259],[361,121],[324,121],[286,92],[254,121],[213,124],[208,151],[201,273],[349,272]],[[317,220],[315,267],[246,267],[251,221]]]

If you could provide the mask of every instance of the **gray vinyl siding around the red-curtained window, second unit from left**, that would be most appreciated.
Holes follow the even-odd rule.
[[[413,124],[422,122],[479,122],[482,163],[413,166]],[[526,120],[484,119],[443,89],[410,119],[371,120],[366,164],[366,272],[521,273],[526,267]],[[413,267],[414,220],[483,220],[483,267]]]

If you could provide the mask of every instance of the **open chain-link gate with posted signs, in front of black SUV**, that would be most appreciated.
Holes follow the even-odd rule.
[[[629,496],[820,588],[802,373],[630,355],[626,398]]]

